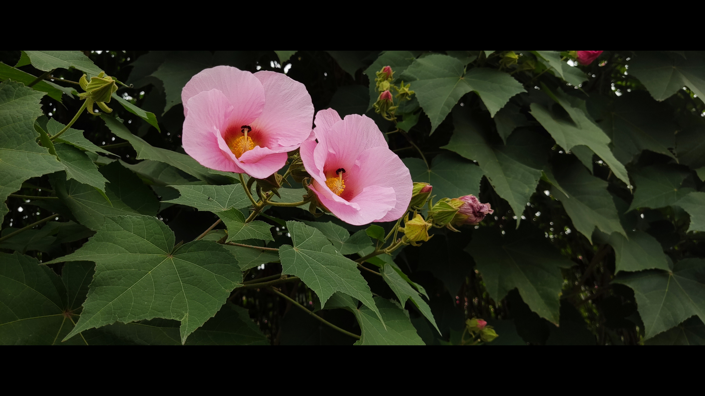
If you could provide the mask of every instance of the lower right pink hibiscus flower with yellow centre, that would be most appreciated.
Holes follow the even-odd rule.
[[[316,114],[315,124],[300,153],[319,202],[353,225],[403,216],[411,201],[411,175],[374,121],[357,114],[343,120],[327,109]]]

